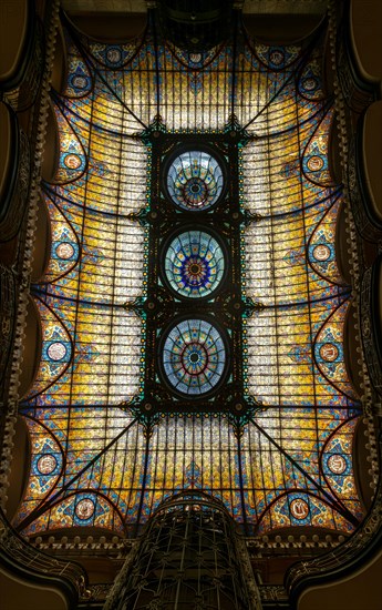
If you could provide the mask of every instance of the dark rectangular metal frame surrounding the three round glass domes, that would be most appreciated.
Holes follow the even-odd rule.
[[[151,151],[149,211],[141,222],[148,230],[146,298],[138,298],[126,305],[146,322],[146,355],[143,397],[135,399],[133,407],[137,415],[152,417],[161,413],[198,414],[221,413],[231,415],[235,421],[254,414],[258,406],[245,394],[242,363],[242,318],[258,306],[241,294],[242,244],[241,227],[249,221],[241,210],[239,197],[239,148],[248,141],[233,119],[224,132],[216,133],[168,133],[157,118],[143,134]],[[165,176],[169,163],[186,150],[203,150],[215,155],[224,171],[224,186],[216,204],[206,211],[179,210],[169,199]],[[228,253],[226,276],[211,298],[187,299],[174,296],[174,291],[163,282],[164,244],[175,231],[199,227],[216,234]],[[179,397],[166,384],[159,360],[163,335],[175,321],[189,317],[205,317],[221,329],[227,338],[227,383],[198,397]],[[235,355],[235,357],[233,356]],[[224,380],[223,378],[223,380]],[[224,405],[224,407],[223,407]]]

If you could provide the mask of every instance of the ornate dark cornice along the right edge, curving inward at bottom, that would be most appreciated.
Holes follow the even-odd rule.
[[[348,7],[349,8],[349,7]],[[352,210],[350,206],[350,194],[347,187],[347,175],[349,171],[349,112],[351,110],[345,104],[344,93],[339,80],[338,64],[338,44],[337,34],[339,26],[337,21],[338,6],[334,0],[329,1],[329,37],[331,62],[334,74],[334,95],[337,119],[340,133],[340,155],[343,172],[343,197],[345,203],[345,223],[348,234],[348,254],[351,262],[352,276],[352,297],[357,306],[358,338],[361,335],[361,289],[363,276],[363,263],[361,258],[361,244],[358,235]],[[371,101],[370,101],[371,103]],[[372,390],[372,384],[369,377],[369,372],[365,363],[365,354],[363,347],[360,347],[360,357],[362,362],[362,384],[363,394],[361,396],[363,410],[365,415],[365,424],[369,434],[369,460],[372,465],[372,482],[371,486],[375,489],[373,505],[366,515],[364,521],[355,530],[355,532],[338,546],[329,553],[324,553],[316,559],[298,562],[292,566],[286,575],[286,589],[289,593],[291,602],[297,606],[297,601],[303,590],[312,586],[320,586],[333,580],[338,580],[351,575],[357,568],[366,563],[376,551],[381,548],[382,542],[382,481],[378,471],[378,456],[382,455],[382,413],[375,404],[375,396]],[[375,437],[379,437],[376,441]]]

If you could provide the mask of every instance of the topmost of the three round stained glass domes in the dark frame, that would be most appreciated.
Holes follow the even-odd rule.
[[[209,210],[223,193],[223,169],[206,151],[186,151],[169,165],[166,185],[169,197],[182,210]]]

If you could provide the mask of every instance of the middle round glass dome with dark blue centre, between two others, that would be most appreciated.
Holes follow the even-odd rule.
[[[180,296],[209,296],[221,283],[226,261],[216,237],[206,231],[184,231],[165,251],[165,276]]]

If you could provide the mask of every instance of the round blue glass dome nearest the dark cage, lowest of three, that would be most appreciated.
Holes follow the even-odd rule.
[[[220,332],[200,318],[175,324],[163,344],[162,364],[173,388],[198,397],[215,389],[224,378],[226,347]]]

